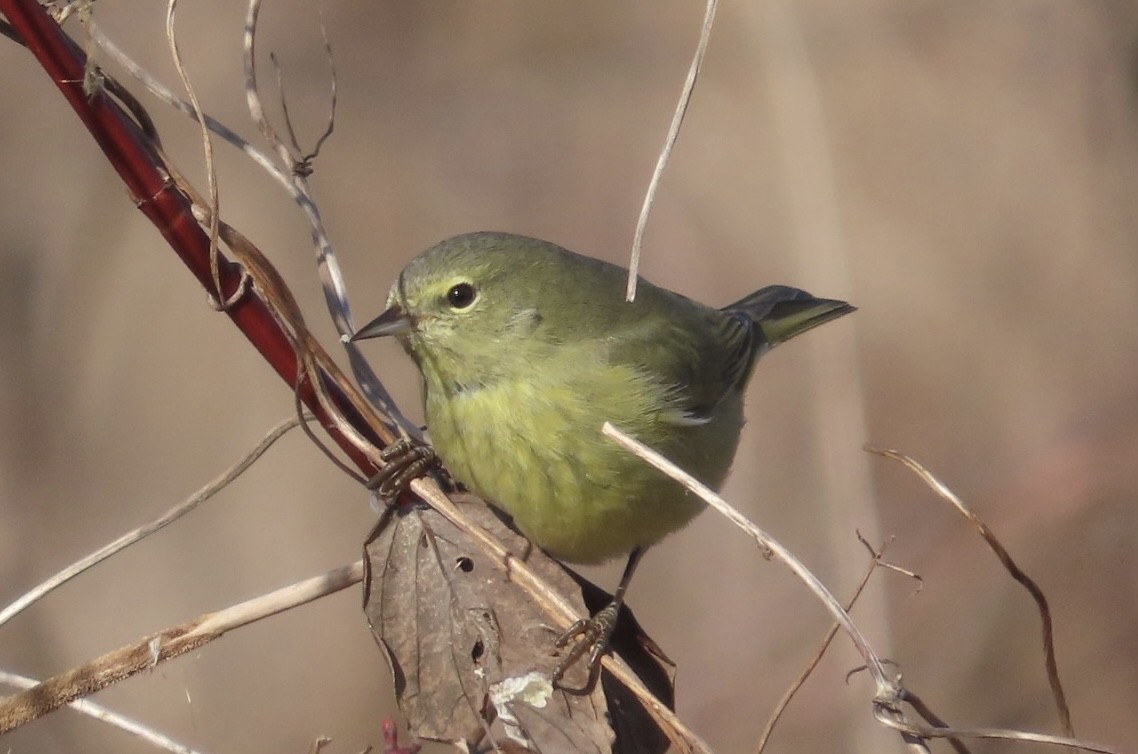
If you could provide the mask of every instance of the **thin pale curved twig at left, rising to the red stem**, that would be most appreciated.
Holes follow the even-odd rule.
[[[98,563],[101,563],[102,561],[107,560],[115,553],[126,549],[134,542],[138,542],[149,537],[156,531],[178,521],[190,511],[197,508],[199,505],[201,505],[211,497],[220,492],[222,489],[224,489],[234,479],[245,473],[245,470],[251,466],[257,458],[264,455],[265,450],[267,450],[286,432],[288,432],[290,429],[292,429],[299,423],[300,422],[297,419],[287,419],[280,422],[279,424],[270,429],[269,432],[265,433],[265,437],[262,438],[261,442],[258,442],[255,448],[245,454],[241,458],[237,461],[237,463],[226,469],[224,472],[222,472],[218,477],[216,477],[208,484],[199,489],[197,492],[195,492],[187,499],[182,500],[174,507],[170,508],[154,521],[142,524],[141,527],[126,532],[118,539],[108,542],[107,545],[104,545],[102,547],[94,550],[90,555],[75,561],[64,570],[52,575],[50,579],[41,582],[34,589],[31,589],[30,591],[17,598],[10,605],[0,611],[0,625],[3,625],[13,618],[22,613],[24,610],[26,610],[28,606],[42,599],[48,594],[59,588],[71,579],[74,579],[83,571],[86,571],[88,569],[97,565]]]

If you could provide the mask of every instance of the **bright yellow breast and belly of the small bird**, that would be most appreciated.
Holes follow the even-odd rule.
[[[445,397],[428,391],[428,429],[451,473],[509,513],[534,544],[562,560],[596,563],[654,544],[703,508],[604,438],[604,421],[715,488],[742,426],[737,396],[708,423],[682,425],[659,409],[660,395],[625,390],[615,400],[609,388],[502,381]]]

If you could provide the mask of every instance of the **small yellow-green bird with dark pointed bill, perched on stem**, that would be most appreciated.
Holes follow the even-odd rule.
[[[717,309],[644,280],[628,303],[627,277],[547,241],[468,233],[407,264],[353,337],[399,340],[438,456],[535,545],[574,563],[632,554],[618,606],[644,548],[703,503],[602,436],[604,422],[718,489],[756,361],[853,310],[784,285]]]

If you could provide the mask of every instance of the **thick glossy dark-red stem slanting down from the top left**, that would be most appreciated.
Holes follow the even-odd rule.
[[[83,51],[64,34],[35,0],[0,0],[0,10],[19,32],[27,49],[36,57],[94,136],[107,159],[123,179],[138,208],[150,218],[205,289],[213,291],[208,237],[193,219],[189,201],[166,179],[159,161],[149,149],[147,138],[135,123],[101,90],[91,96],[83,91],[86,59]],[[220,273],[222,295],[229,297],[239,284],[240,267],[222,257]],[[295,387],[296,353],[264,301],[250,291],[241,296],[226,314],[281,379],[290,388]],[[344,397],[337,384],[327,379],[327,374],[322,376],[332,403],[341,414],[360,431],[371,437],[372,432],[366,422]],[[364,474],[376,473],[376,467],[366,456],[337,430],[327,412],[320,406],[307,381],[300,386],[300,399]]]

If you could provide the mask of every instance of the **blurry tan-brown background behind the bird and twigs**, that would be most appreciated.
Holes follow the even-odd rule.
[[[1138,748],[1138,9],[1129,3],[727,2],[645,242],[643,273],[708,303],[761,284],[852,317],[764,361],[726,497],[840,594],[855,528],[924,577],[855,611],[958,724],[1055,731],[1039,627],[960,520],[863,442],[960,494],[1052,599],[1074,721]],[[174,81],[160,3],[97,6]],[[205,107],[249,138],[244,9],[183,2]],[[328,3],[336,134],[313,184],[358,322],[415,252],[510,230],[622,260],[701,5]],[[315,11],[267,3],[259,49],[322,127]],[[800,36],[797,36],[800,35]],[[795,39],[801,42],[797,45]],[[206,306],[31,57],[0,43],[0,604],[214,477],[291,395]],[[266,68],[267,71],[267,68]],[[141,91],[134,86],[135,91]],[[159,127],[200,182],[196,129]],[[308,233],[218,147],[223,214],[274,259],[325,345]],[[368,347],[419,416],[412,368]],[[0,629],[0,666],[44,677],[358,557],[374,514],[299,434],[216,500]],[[612,585],[616,567],[592,571]],[[714,515],[646,558],[630,602],[679,665],[681,715],[753,746],[827,625],[784,569]],[[358,589],[237,631],[96,698],[207,752],[381,745],[390,679]],[[842,647],[773,752],[900,751]],[[149,752],[61,711],[11,752]],[[983,744],[976,752],[1013,751]],[[1028,751],[1026,748],[1015,751]]]

